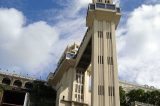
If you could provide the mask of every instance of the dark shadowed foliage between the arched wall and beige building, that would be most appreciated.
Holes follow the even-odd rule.
[[[55,106],[56,91],[45,82],[34,81],[30,98],[32,106]]]

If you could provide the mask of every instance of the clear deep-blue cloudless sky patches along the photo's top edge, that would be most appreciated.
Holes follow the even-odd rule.
[[[67,0],[64,0],[66,2]],[[88,0],[89,1],[89,0]],[[51,17],[48,17],[48,12],[55,13],[58,10],[62,10],[67,6],[66,4],[58,3],[56,0],[0,0],[1,8],[15,8],[22,11],[24,16],[29,20],[28,22],[34,21],[46,21],[48,24],[54,24],[55,21],[50,21]],[[72,2],[72,1],[71,1]],[[122,0],[120,6],[122,11],[130,12],[133,11],[138,6],[145,4],[145,0]],[[70,3],[68,3],[70,4]],[[83,8],[86,12],[86,8]],[[47,15],[47,16],[46,16]],[[85,14],[81,14],[85,15]],[[54,17],[52,17],[54,19]]]

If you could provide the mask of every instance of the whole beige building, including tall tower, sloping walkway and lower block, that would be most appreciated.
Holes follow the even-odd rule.
[[[57,89],[57,106],[120,106],[115,39],[120,17],[112,0],[89,4],[88,29],[79,49],[77,45],[67,48],[54,75],[49,76]]]

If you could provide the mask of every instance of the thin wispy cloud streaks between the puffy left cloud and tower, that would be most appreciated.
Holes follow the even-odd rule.
[[[56,26],[60,36],[57,42],[59,49],[57,50],[55,63],[57,63],[68,44],[73,44],[74,42],[80,44],[87,28],[85,17],[87,6],[90,2],[91,0],[60,0],[57,3],[61,6],[61,9],[55,10],[53,8],[44,11],[43,14],[46,14],[45,16],[48,20],[55,22],[54,26]],[[81,13],[84,9],[85,12]]]

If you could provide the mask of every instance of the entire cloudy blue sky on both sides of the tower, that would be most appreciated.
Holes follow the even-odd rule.
[[[0,0],[1,72],[45,79],[65,47],[81,42],[89,2]],[[122,10],[116,34],[119,78],[160,87],[160,1],[115,2]]]

